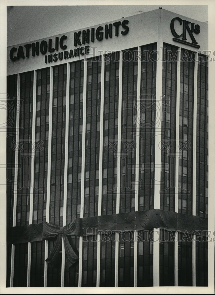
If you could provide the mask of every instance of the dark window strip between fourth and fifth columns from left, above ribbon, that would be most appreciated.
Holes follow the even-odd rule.
[[[66,223],[80,217],[84,61],[70,64],[69,151]],[[80,177],[79,177],[80,176]],[[77,276],[77,275],[76,275]],[[68,282],[71,284],[71,281]]]

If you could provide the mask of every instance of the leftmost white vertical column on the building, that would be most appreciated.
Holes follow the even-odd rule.
[[[17,74],[17,119],[16,119],[16,150],[15,150],[15,169],[14,169],[14,204],[13,204],[13,227],[16,226],[17,215],[17,181],[18,181],[18,160],[19,160],[19,113],[20,113],[20,74]],[[11,248],[11,269],[10,269],[10,287],[13,287],[14,276],[14,253],[15,245]]]

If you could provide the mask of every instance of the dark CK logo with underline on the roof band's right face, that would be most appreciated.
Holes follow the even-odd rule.
[[[175,27],[174,27],[175,21],[178,21],[180,25],[183,25],[182,33],[180,35],[178,35],[177,32],[175,31]],[[175,36],[175,38],[172,38],[173,41],[187,44],[187,45],[190,45],[190,46],[193,46],[196,48],[200,48],[200,46],[197,45],[198,42],[196,42],[196,39],[193,36],[193,33],[194,34],[200,33],[200,26],[198,24],[194,24],[193,22],[188,22],[185,19],[182,20],[180,17],[174,17],[170,23],[170,30],[172,32],[172,35]],[[186,41],[187,40],[187,33],[190,36],[190,39],[192,40],[192,42]],[[181,39],[179,39],[179,38],[181,38]]]

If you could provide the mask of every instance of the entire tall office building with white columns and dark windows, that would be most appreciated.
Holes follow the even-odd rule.
[[[157,9],[8,47],[6,286],[208,286],[207,44]]]

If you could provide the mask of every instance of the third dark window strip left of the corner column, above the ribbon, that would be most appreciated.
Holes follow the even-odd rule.
[[[119,52],[105,57],[102,215],[116,213]],[[117,107],[116,107],[117,106]],[[101,274],[106,277],[106,274]]]

